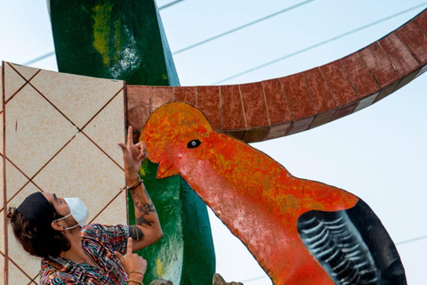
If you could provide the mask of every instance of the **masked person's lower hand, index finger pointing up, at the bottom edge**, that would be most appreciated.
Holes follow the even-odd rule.
[[[143,274],[145,274],[145,271],[147,270],[147,260],[141,256],[138,256],[136,253],[132,253],[132,238],[127,240],[127,250],[125,256],[122,256],[117,251],[114,252],[114,255],[117,256],[120,264],[122,265],[123,269],[125,269],[127,274],[130,274],[131,272],[141,273],[132,273],[132,278],[129,277],[130,279],[142,281],[144,277]]]

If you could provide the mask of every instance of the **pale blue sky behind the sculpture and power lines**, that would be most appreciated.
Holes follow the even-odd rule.
[[[157,4],[170,2],[159,0]],[[176,52],[295,4],[302,5],[175,54],[181,85],[212,85],[284,57],[222,84],[260,81],[310,69],[359,50],[427,7],[427,2],[414,0],[184,0],[160,13],[171,50]],[[0,11],[0,60],[23,63],[53,50],[44,0],[2,0]],[[403,13],[354,31],[399,12]],[[342,36],[350,31],[354,32]],[[301,52],[338,36],[342,37]],[[33,66],[57,70],[53,56]],[[411,285],[425,284],[427,265],[427,239],[402,243],[427,236],[426,78],[424,74],[383,101],[333,123],[253,144],[295,176],[331,184],[364,199],[398,244]],[[227,281],[270,284],[251,254],[222,222],[211,215],[211,223],[217,272]]]

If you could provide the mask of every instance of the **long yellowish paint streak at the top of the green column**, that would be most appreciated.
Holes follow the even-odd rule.
[[[93,7],[93,48],[101,53],[102,61],[109,67],[109,22],[111,19],[111,4],[97,4]]]

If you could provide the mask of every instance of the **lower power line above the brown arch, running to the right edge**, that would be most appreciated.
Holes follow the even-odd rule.
[[[329,38],[329,39],[326,39],[325,41],[320,42],[320,43],[318,43],[318,44],[316,44],[316,45],[310,45],[310,46],[308,46],[308,47],[306,47],[306,48],[303,48],[303,49],[301,49],[301,50],[299,50],[299,51],[296,51],[296,52],[294,52],[294,53],[289,53],[289,54],[286,54],[285,56],[279,57],[279,58],[278,58],[278,59],[276,59],[276,60],[268,61],[268,62],[266,62],[266,63],[263,63],[263,64],[261,64],[261,65],[258,65],[258,66],[254,67],[254,68],[252,68],[252,69],[246,69],[245,71],[239,72],[238,74],[235,74],[235,75],[233,75],[233,76],[223,78],[222,80],[220,80],[220,81],[217,81],[217,82],[213,83],[213,85],[218,85],[218,84],[220,84],[220,83],[222,83],[222,82],[228,81],[228,80],[233,79],[233,78],[236,78],[236,77],[240,77],[240,76],[242,76],[242,75],[245,75],[245,74],[250,73],[250,72],[252,72],[252,71],[255,71],[255,70],[257,70],[257,69],[265,68],[265,67],[267,67],[267,66],[269,66],[269,65],[271,65],[271,64],[274,64],[274,63],[276,63],[276,62],[278,62],[278,61],[283,61],[283,60],[286,60],[286,59],[288,59],[288,58],[290,58],[290,57],[293,57],[293,56],[295,56],[295,55],[297,55],[297,54],[300,54],[300,53],[304,53],[304,52],[310,51],[310,50],[312,50],[312,49],[314,49],[314,48],[316,48],[316,47],[318,47],[318,46],[320,46],[320,45],[326,45],[326,44],[328,44],[328,43],[330,43],[330,42],[333,42],[333,41],[335,41],[335,40],[337,40],[337,39],[340,39],[340,38],[342,38],[342,37],[346,37],[346,36],[349,36],[349,35],[354,34],[354,33],[356,33],[356,32],[359,32],[359,31],[360,31],[360,30],[362,30],[362,29],[370,28],[370,27],[372,27],[372,26],[375,26],[376,24],[382,23],[383,21],[390,20],[390,19],[392,19],[392,18],[396,18],[396,17],[398,17],[398,16],[400,16],[400,15],[402,15],[402,14],[404,14],[404,13],[407,13],[407,12],[411,12],[411,11],[413,11],[413,10],[415,10],[415,9],[417,9],[417,8],[420,8],[420,7],[422,7],[422,6],[426,5],[426,4],[427,4],[427,2],[424,2],[423,4],[418,4],[418,5],[413,6],[413,7],[409,8],[409,9],[407,9],[407,10],[404,10],[404,11],[401,11],[401,12],[397,12],[397,13],[392,14],[391,16],[385,17],[385,18],[383,18],[383,19],[375,20],[375,21],[373,21],[373,22],[371,22],[371,23],[369,23],[369,24],[367,24],[367,25],[365,25],[365,26],[362,26],[362,27],[359,27],[359,28],[352,29],[352,30],[350,30],[350,31],[348,31],[348,32],[346,32],[346,33],[343,33],[343,34],[339,35],[339,36],[331,37],[331,38]]]

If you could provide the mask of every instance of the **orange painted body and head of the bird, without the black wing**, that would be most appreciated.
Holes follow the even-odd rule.
[[[141,133],[157,177],[182,175],[251,251],[274,284],[334,284],[305,248],[297,219],[310,210],[352,208],[347,191],[291,175],[261,151],[214,131],[203,113],[171,102]],[[200,145],[188,148],[189,142]]]

